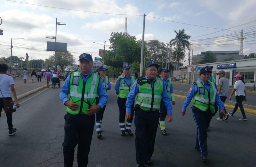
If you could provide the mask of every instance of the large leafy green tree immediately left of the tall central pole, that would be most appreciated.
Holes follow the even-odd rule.
[[[124,62],[131,64],[133,61],[140,61],[141,41],[137,41],[135,36],[112,32],[109,41],[110,50],[105,53],[106,65],[122,68]]]

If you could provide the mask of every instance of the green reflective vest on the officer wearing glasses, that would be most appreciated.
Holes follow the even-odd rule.
[[[141,85],[138,80],[142,80],[143,84]],[[144,111],[159,111],[164,86],[163,81],[157,77],[153,87],[145,77],[138,78],[137,81],[139,92],[135,104],[139,104]]]

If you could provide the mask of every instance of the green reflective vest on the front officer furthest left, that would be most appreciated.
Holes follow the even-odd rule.
[[[96,105],[95,97],[99,86],[100,76],[92,72],[91,76],[84,82],[80,71],[75,71],[70,74],[70,101],[74,101],[80,105],[76,111],[66,107],[66,111],[70,114],[88,113],[86,110],[91,107],[91,104]],[[81,103],[82,101],[82,103]]]

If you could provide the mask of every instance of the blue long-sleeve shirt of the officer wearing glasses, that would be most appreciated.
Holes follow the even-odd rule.
[[[149,81],[147,76],[145,76],[145,78]],[[155,81],[156,81],[156,78],[151,83],[152,87],[154,86]],[[125,104],[126,105],[126,113],[131,113],[131,107],[133,107],[132,103],[133,103],[137,93],[139,93],[139,85],[138,85],[137,80],[135,80],[134,85],[132,86],[132,88],[128,94],[127,100],[126,100],[126,104]],[[166,86],[163,86],[163,93],[162,93],[161,97],[162,97],[162,100],[165,103],[165,106],[167,108],[167,114],[172,114],[172,105],[170,103],[171,98],[169,97],[169,95],[167,93]]]

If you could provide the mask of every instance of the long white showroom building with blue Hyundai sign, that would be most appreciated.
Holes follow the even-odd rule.
[[[218,85],[218,75],[216,73],[220,70],[226,72],[225,76],[229,79],[229,85],[233,85],[236,74],[241,74],[244,78],[246,86],[254,86],[256,80],[256,58],[232,60],[227,62],[215,62],[207,64],[190,65],[187,70],[187,82],[196,82],[199,77],[199,71],[201,68],[210,65],[213,66],[212,75],[216,78],[216,84]],[[190,81],[189,81],[190,80]]]

